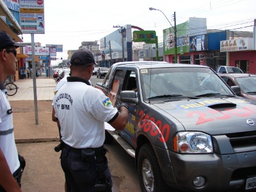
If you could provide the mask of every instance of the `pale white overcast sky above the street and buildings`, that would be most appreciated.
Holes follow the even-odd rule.
[[[149,8],[160,11],[150,11]],[[68,50],[76,50],[81,42],[99,41],[117,28],[131,24],[144,30],[154,30],[159,42],[163,29],[186,22],[189,17],[207,19],[207,29],[253,31],[256,19],[255,0],[44,0],[45,34],[35,34],[35,42],[63,45],[52,65],[67,59]],[[163,13],[162,13],[163,12]],[[164,15],[167,17],[164,17]],[[31,35],[22,35],[31,42]]]

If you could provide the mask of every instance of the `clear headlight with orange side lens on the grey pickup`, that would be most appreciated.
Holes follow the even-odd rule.
[[[204,132],[178,132],[173,140],[174,151],[182,154],[212,153],[212,140]]]

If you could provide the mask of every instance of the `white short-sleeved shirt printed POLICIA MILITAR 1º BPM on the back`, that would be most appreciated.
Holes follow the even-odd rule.
[[[104,122],[111,120],[118,111],[101,90],[81,81],[68,81],[58,90],[53,102],[61,125],[61,140],[74,148],[103,145]]]

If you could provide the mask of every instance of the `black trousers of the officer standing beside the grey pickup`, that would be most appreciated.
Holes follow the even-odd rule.
[[[95,184],[99,182],[96,160],[81,160],[81,152],[72,150],[68,145],[64,145],[61,150],[61,167],[65,173],[68,191],[95,191]],[[111,173],[108,168],[108,159],[104,156],[104,170],[106,179],[111,186]]]

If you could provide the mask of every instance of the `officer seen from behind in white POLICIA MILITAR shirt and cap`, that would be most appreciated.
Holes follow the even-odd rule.
[[[104,122],[124,130],[129,109],[113,108],[99,89],[90,86],[95,60],[92,52],[74,52],[71,77],[54,96],[55,120],[60,122],[61,167],[68,191],[111,191],[112,180],[104,147]]]

